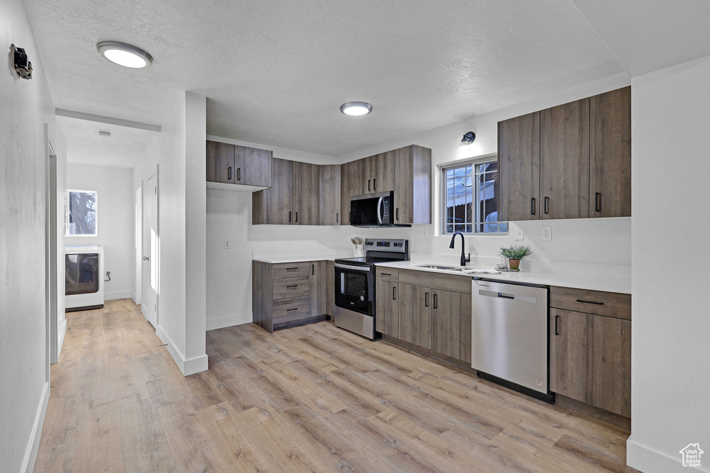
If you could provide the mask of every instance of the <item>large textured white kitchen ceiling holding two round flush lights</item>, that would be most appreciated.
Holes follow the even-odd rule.
[[[622,72],[569,0],[26,0],[58,108],[340,156]],[[100,40],[153,55],[113,65]],[[343,116],[351,100],[370,116]]]

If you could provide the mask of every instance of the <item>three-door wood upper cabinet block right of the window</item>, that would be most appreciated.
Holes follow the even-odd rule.
[[[499,220],[631,215],[631,89],[498,122]]]

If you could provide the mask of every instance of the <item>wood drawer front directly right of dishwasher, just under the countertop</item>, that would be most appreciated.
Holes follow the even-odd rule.
[[[550,307],[631,320],[631,295],[550,287]]]

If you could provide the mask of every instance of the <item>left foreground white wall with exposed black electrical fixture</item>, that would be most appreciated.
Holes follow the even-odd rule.
[[[16,79],[9,45],[25,48],[33,79]],[[49,395],[45,313],[45,123],[60,159],[65,141],[21,0],[0,2],[0,459],[31,471]]]

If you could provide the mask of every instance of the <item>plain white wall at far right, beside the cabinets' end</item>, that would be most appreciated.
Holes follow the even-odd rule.
[[[710,57],[632,81],[633,317],[628,464],[710,471]],[[672,193],[664,189],[672,186]],[[672,219],[677,224],[665,223]]]

